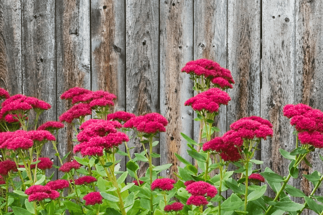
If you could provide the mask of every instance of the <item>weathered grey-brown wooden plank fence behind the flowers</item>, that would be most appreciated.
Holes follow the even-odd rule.
[[[209,58],[235,80],[227,90],[232,100],[217,118],[219,135],[241,117],[270,120],[274,136],[261,142],[257,156],[263,169],[286,175],[288,161],[278,148],[290,151],[295,137],[282,108],[323,109],[322,8],[323,0],[1,0],[0,87],[50,103],[42,122],[68,109],[59,96],[74,86],[115,93],[115,110],[160,112],[169,125],[155,162],[173,163],[162,173],[171,176],[179,164],[175,152],[189,159],[180,132],[195,138],[199,127],[183,106],[193,91],[180,70]],[[72,139],[67,125],[58,137],[62,154]],[[142,150],[129,144],[138,146],[133,153]],[[313,168],[302,164],[300,176],[323,171],[318,152],[307,157]],[[50,146],[46,154],[56,161]],[[304,177],[291,183],[311,191]]]

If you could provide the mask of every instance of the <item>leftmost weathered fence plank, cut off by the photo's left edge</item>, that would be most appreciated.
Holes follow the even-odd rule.
[[[20,1],[0,2],[0,34],[0,87],[22,93]]]

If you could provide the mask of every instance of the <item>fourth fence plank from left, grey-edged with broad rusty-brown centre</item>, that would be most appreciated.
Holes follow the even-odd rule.
[[[92,90],[115,94],[115,111],[126,108],[124,11],[124,1],[91,1]],[[125,151],[125,146],[119,149]],[[122,159],[120,170],[125,171],[125,157],[117,159]]]

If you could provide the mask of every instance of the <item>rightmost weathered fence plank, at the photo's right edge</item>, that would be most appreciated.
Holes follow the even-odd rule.
[[[296,1],[295,9],[295,104],[304,103],[313,108],[323,110],[323,1]],[[322,172],[322,161],[318,154],[322,149],[316,149],[307,156],[313,168],[301,163],[299,178],[295,180],[295,187],[309,195],[314,186],[302,174],[311,174],[317,170]],[[315,195],[323,195],[322,189]],[[303,203],[301,201],[301,203]],[[315,214],[314,211],[304,211],[303,214]]]

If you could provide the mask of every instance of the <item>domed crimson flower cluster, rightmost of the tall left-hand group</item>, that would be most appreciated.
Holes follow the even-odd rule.
[[[138,132],[154,134],[165,132],[168,121],[159,113],[147,113],[146,115],[136,116],[123,124],[125,128],[136,128]]]

